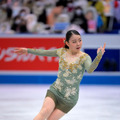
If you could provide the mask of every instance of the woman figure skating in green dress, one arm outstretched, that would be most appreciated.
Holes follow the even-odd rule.
[[[16,48],[18,54],[35,54],[41,56],[59,57],[59,71],[57,80],[47,91],[42,109],[34,120],[58,120],[68,113],[77,103],[79,84],[83,73],[93,72],[98,66],[104,47],[97,50],[97,56],[92,62],[90,56],[82,51],[81,35],[76,30],[70,30],[66,34],[64,48],[55,50]]]

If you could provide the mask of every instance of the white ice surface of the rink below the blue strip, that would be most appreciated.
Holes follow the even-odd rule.
[[[0,85],[0,120],[33,120],[49,85]],[[120,86],[81,85],[77,105],[61,120],[120,120]]]

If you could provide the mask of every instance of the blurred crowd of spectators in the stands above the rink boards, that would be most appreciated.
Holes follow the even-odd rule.
[[[0,33],[120,33],[119,0],[0,0]]]

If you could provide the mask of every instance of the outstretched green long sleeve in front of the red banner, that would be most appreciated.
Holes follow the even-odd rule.
[[[39,56],[51,56],[51,57],[58,57],[57,50],[42,50],[42,49],[30,49],[28,48],[28,53],[39,55]]]

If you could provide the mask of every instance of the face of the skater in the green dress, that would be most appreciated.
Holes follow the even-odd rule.
[[[69,42],[66,42],[69,50],[76,53],[79,52],[82,47],[82,39],[80,35],[73,34],[69,39]]]

